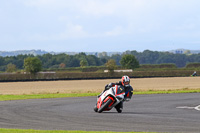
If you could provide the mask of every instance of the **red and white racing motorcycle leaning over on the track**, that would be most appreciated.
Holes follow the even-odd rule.
[[[121,85],[115,85],[97,98],[97,104],[94,107],[94,111],[98,113],[101,113],[102,111],[109,111],[122,102],[124,100],[124,96],[125,88]],[[117,112],[121,113],[122,110],[117,109]]]

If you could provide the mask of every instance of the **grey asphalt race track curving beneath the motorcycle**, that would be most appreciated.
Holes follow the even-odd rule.
[[[96,97],[0,102],[0,128],[200,132],[200,94],[133,95],[121,114],[95,113]]]

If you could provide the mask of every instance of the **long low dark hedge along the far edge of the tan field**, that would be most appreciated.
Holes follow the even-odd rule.
[[[77,80],[77,79],[109,79],[121,78],[123,75],[128,75],[132,78],[144,77],[187,77],[190,76],[193,70],[163,70],[163,71],[133,71],[121,73],[97,73],[97,72],[82,72],[82,73],[38,73],[31,74],[0,74],[0,82],[12,81],[42,81],[42,80]],[[197,71],[197,74],[200,71]]]

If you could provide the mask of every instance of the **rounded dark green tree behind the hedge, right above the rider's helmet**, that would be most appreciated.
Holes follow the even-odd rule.
[[[134,55],[126,54],[122,56],[120,64],[128,69],[135,69],[139,67],[139,62]]]

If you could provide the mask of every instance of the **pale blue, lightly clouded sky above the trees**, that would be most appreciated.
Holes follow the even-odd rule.
[[[200,50],[200,0],[0,0],[0,51]]]

